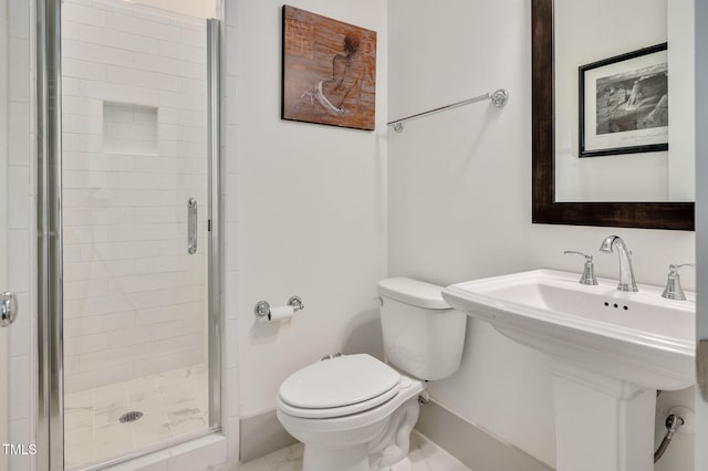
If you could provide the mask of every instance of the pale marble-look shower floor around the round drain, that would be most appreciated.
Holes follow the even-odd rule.
[[[190,366],[64,397],[64,463],[88,468],[206,430],[209,383],[205,365]],[[121,423],[126,412],[138,420]]]

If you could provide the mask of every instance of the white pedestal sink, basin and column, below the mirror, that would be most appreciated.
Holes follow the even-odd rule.
[[[558,471],[652,471],[656,390],[695,383],[696,299],[535,270],[452,284],[451,306],[545,354]]]

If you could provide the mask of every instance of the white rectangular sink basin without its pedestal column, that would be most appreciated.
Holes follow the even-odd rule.
[[[683,389],[695,383],[693,293],[687,301],[577,283],[579,275],[535,270],[448,286],[442,297],[500,333],[600,374],[653,389]]]

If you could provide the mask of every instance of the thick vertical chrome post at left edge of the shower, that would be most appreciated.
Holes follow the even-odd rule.
[[[61,0],[37,0],[38,470],[62,470]]]

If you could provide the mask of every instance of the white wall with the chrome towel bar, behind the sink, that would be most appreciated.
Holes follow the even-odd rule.
[[[485,104],[389,133],[389,274],[449,284],[553,268],[580,274],[574,249],[596,254],[597,274],[617,276],[616,255],[597,252],[622,236],[643,283],[664,284],[673,261],[695,259],[690,232],[531,223],[531,12],[521,0],[391,0],[392,119],[498,87]],[[695,286],[691,270],[683,275]],[[540,355],[472,321],[460,371],[431,385],[464,419],[553,465],[553,407]]]

